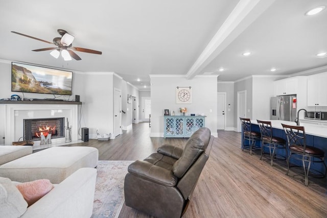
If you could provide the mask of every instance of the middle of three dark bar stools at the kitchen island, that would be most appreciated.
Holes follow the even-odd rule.
[[[287,159],[287,149],[286,140],[281,137],[273,136],[272,127],[270,121],[256,120],[258,122],[260,132],[261,132],[261,157],[265,154],[270,154],[270,165],[273,166],[273,160],[286,160]],[[269,153],[264,152],[264,148],[269,149]],[[277,149],[285,149],[286,156],[276,154]]]

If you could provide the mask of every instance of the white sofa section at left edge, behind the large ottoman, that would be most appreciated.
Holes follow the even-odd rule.
[[[0,146],[0,165],[32,154],[32,146]]]

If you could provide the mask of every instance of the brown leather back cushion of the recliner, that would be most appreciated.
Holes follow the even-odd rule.
[[[210,135],[210,130],[205,127],[193,133],[185,144],[182,156],[173,165],[173,173],[176,177],[181,178],[200,154],[205,151]]]

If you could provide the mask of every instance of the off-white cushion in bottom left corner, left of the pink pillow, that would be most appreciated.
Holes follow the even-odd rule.
[[[0,177],[0,217],[19,217],[25,213],[27,202],[10,179]]]

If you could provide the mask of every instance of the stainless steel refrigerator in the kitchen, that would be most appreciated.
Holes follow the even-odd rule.
[[[296,118],[296,95],[284,95],[270,99],[270,119],[294,121]]]

